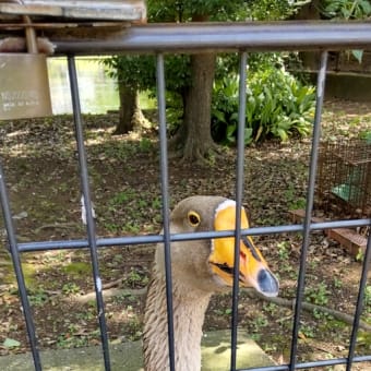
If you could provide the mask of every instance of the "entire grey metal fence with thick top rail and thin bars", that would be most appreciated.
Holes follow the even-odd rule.
[[[211,239],[226,236],[241,235],[258,236],[286,232],[301,232],[302,247],[300,253],[300,267],[297,283],[297,300],[295,306],[294,328],[291,335],[290,361],[288,364],[254,368],[253,370],[295,370],[326,367],[335,364],[346,364],[347,370],[351,370],[355,362],[371,361],[371,355],[356,356],[355,347],[364,288],[367,286],[367,273],[370,265],[371,237],[368,238],[367,251],[362,265],[362,274],[359,282],[359,294],[354,316],[352,331],[349,338],[348,357],[315,360],[300,363],[297,361],[298,335],[300,328],[300,313],[302,311],[304,278],[307,268],[308,248],[311,234],[314,230],[327,228],[344,228],[371,225],[370,218],[311,223],[313,208],[315,173],[318,165],[318,153],[321,134],[321,111],[323,107],[324,86],[326,76],[327,50],[339,50],[344,48],[362,48],[371,45],[371,24],[337,24],[337,23],[278,23],[278,24],[210,24],[210,25],[169,25],[169,26],[133,26],[124,31],[115,38],[95,38],[91,40],[73,40],[56,38],[57,53],[68,55],[68,65],[71,82],[71,96],[73,101],[73,112],[75,122],[76,143],[79,149],[81,187],[86,206],[86,238],[81,240],[63,241],[35,241],[19,243],[16,240],[12,222],[10,199],[5,187],[5,177],[0,167],[0,196],[1,206],[8,232],[9,246],[13,259],[14,271],[16,274],[19,292],[22,301],[24,319],[28,333],[35,370],[41,370],[41,362],[35,335],[32,310],[27,298],[25,279],[21,266],[21,255],[24,252],[46,251],[58,249],[82,249],[88,248],[91,251],[93,275],[95,283],[95,294],[97,302],[98,321],[101,337],[103,357],[105,369],[110,370],[110,357],[108,348],[108,336],[105,320],[105,306],[103,300],[101,282],[97,250],[100,247],[128,246],[142,243],[164,243],[166,252],[166,272],[168,290],[168,338],[170,349],[170,367],[173,370],[173,328],[171,309],[171,277],[170,277],[170,244],[171,241],[184,241],[191,239]],[[167,132],[166,132],[166,107],[165,107],[165,71],[164,52],[193,52],[195,50],[218,50],[218,51],[239,51],[240,56],[240,101],[239,101],[239,130],[238,130],[238,155],[236,167],[236,202],[237,210],[241,206],[243,194],[243,161],[244,161],[244,112],[246,94],[244,81],[247,73],[247,59],[249,51],[266,50],[303,50],[322,49],[321,62],[319,67],[316,84],[316,109],[314,117],[314,129],[312,134],[312,147],[310,157],[310,170],[307,192],[306,218],[301,225],[270,226],[251,228],[248,230],[224,231],[224,232],[198,232],[193,235],[170,235],[169,232],[169,189],[168,189],[168,159],[167,159]],[[113,52],[152,52],[157,55],[157,93],[158,93],[158,117],[159,117],[159,145],[160,145],[160,181],[163,200],[163,222],[164,235],[161,236],[132,236],[121,238],[97,238],[95,232],[94,217],[92,215],[92,201],[89,190],[89,179],[87,160],[83,137],[83,120],[80,111],[77,77],[74,64],[75,55],[92,53],[113,53]],[[236,270],[236,275],[238,271]],[[235,277],[236,278],[236,277]],[[237,277],[238,278],[238,277]],[[231,362],[230,370],[236,370],[237,350],[237,312],[238,312],[238,279],[235,279],[232,288],[232,324],[231,324]]]

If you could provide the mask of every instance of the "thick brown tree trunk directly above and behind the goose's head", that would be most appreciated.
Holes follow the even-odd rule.
[[[192,84],[184,99],[183,158],[201,160],[215,148],[211,134],[211,104],[215,74],[215,55],[191,57]]]

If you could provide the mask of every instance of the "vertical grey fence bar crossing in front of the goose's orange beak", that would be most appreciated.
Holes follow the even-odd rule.
[[[241,206],[243,193],[243,159],[244,159],[244,125],[246,125],[246,84],[247,84],[248,53],[240,53],[239,67],[239,108],[237,134],[237,164],[236,164],[236,234],[235,234],[235,271],[232,287],[232,319],[230,339],[230,370],[236,370],[237,362],[237,325],[238,325],[238,294],[240,272],[240,241],[241,241]]]

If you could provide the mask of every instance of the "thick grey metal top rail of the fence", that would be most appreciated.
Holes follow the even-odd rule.
[[[112,37],[91,39],[50,35],[57,55],[124,52],[195,52],[226,50],[304,50],[364,48],[371,24],[359,22],[282,22],[148,24],[131,26]]]

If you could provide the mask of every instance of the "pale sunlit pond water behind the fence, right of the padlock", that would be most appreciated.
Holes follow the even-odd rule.
[[[113,79],[105,73],[100,58],[76,58],[81,110],[83,113],[105,113],[119,108],[119,92]],[[49,58],[48,73],[52,112],[71,113],[70,80],[67,58]]]

